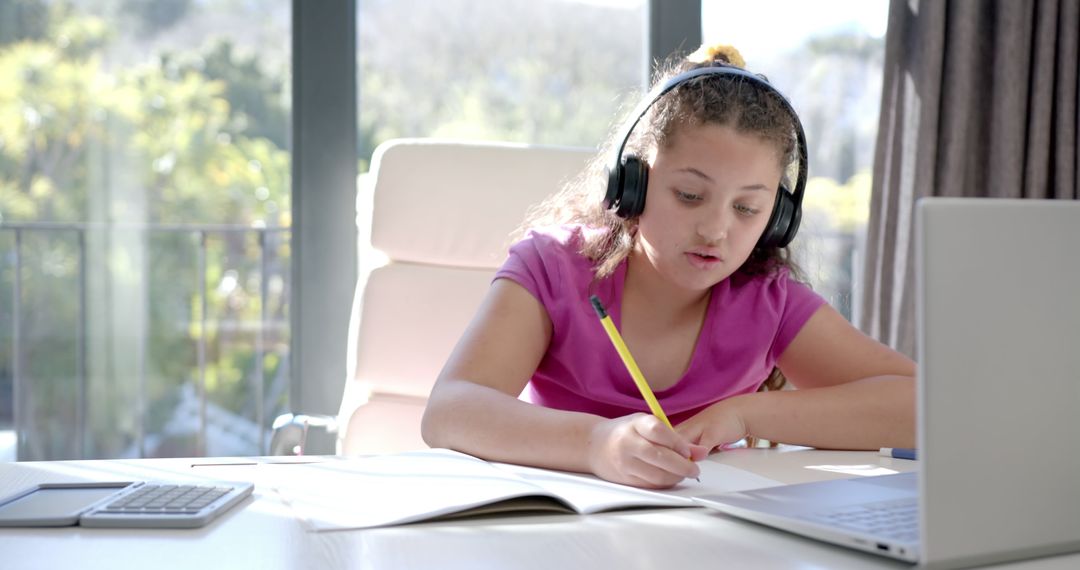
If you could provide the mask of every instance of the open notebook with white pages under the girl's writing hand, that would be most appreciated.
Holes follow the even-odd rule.
[[[704,461],[701,483],[649,491],[571,474],[488,463],[448,449],[260,465],[262,477],[310,530],[403,525],[492,513],[591,514],[625,508],[692,507],[690,498],[779,485]]]

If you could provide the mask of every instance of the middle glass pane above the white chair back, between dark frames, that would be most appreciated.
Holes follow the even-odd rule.
[[[361,2],[361,157],[406,136],[597,146],[640,89],[644,14],[642,0]]]

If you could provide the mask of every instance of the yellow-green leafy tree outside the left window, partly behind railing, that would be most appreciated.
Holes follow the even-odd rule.
[[[200,238],[154,232],[133,238],[122,225],[287,227],[288,152],[278,142],[281,134],[278,141],[265,136],[283,131],[287,110],[268,103],[275,96],[281,100],[283,79],[259,76],[257,58],[234,58],[227,44],[212,45],[198,57],[180,54],[109,69],[102,62],[112,32],[104,21],[60,4],[51,16],[40,38],[0,48],[0,221],[121,226],[87,232],[90,257],[80,253],[73,234],[25,232],[19,325],[24,381],[32,382],[26,403],[33,422],[29,454],[78,454],[80,443],[70,437],[77,416],[75,331],[86,315],[80,315],[75,291],[80,260],[100,259],[105,270],[90,271],[104,276],[91,281],[103,283],[106,291],[135,291],[138,299],[126,304],[112,299],[107,310],[84,308],[86,318],[135,315],[130,321],[143,323],[145,335],[135,330],[132,336],[147,339],[148,355],[140,364],[139,341],[102,338],[118,337],[116,330],[90,341],[87,439],[92,456],[111,457],[124,452],[139,430],[152,434],[164,426],[180,388],[192,381],[195,339],[204,332],[199,324],[204,316],[201,287],[190,280],[198,275]],[[212,72],[177,60],[210,62]],[[2,236],[8,243],[0,246],[10,252],[11,238]],[[267,276],[286,274],[287,245],[271,247]],[[212,403],[247,417],[254,335],[238,325],[257,321],[262,303],[273,303],[271,315],[284,318],[288,295],[278,286],[272,298],[259,297],[258,250],[251,233],[211,232],[205,240],[207,390]],[[0,269],[0,289],[8,299],[13,269]],[[177,279],[183,275],[189,277]],[[226,282],[234,286],[222,287]],[[140,306],[145,316],[137,315]],[[10,315],[14,309],[0,310]],[[0,343],[9,347],[10,331],[0,335]],[[268,337],[271,349],[287,350],[284,335]],[[13,355],[5,349],[0,357],[0,372],[6,371],[10,382]],[[268,357],[267,375],[275,374],[281,363]],[[131,412],[141,390],[131,376],[140,367],[148,378],[147,425],[136,425]],[[159,449],[194,452],[190,442],[166,442]]]

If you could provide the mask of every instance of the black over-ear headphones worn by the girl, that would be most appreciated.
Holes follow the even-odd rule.
[[[792,243],[795,232],[799,229],[799,221],[802,219],[802,193],[807,186],[807,139],[802,133],[802,123],[795,112],[792,104],[782,93],[769,84],[765,78],[751,73],[739,67],[714,65],[711,67],[699,67],[684,73],[679,73],[660,85],[657,85],[642,104],[634,109],[633,121],[631,121],[619,138],[619,147],[616,149],[611,163],[607,167],[608,187],[604,195],[604,207],[615,209],[615,214],[620,218],[633,218],[642,215],[645,211],[645,192],[649,186],[649,165],[636,154],[623,155],[626,141],[631,132],[637,126],[642,117],[649,110],[649,107],[669,91],[701,76],[729,76],[742,78],[754,83],[766,91],[777,95],[784,108],[792,116],[795,123],[796,154],[798,154],[799,174],[795,179],[795,191],[789,192],[784,182],[780,182],[777,190],[777,201],[772,206],[772,214],[769,222],[761,233],[757,247],[784,247]]]

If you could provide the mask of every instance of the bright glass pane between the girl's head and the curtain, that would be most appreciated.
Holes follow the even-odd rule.
[[[852,318],[881,101],[888,0],[703,0],[706,42],[730,43],[792,101],[810,180],[796,259],[814,289]]]

